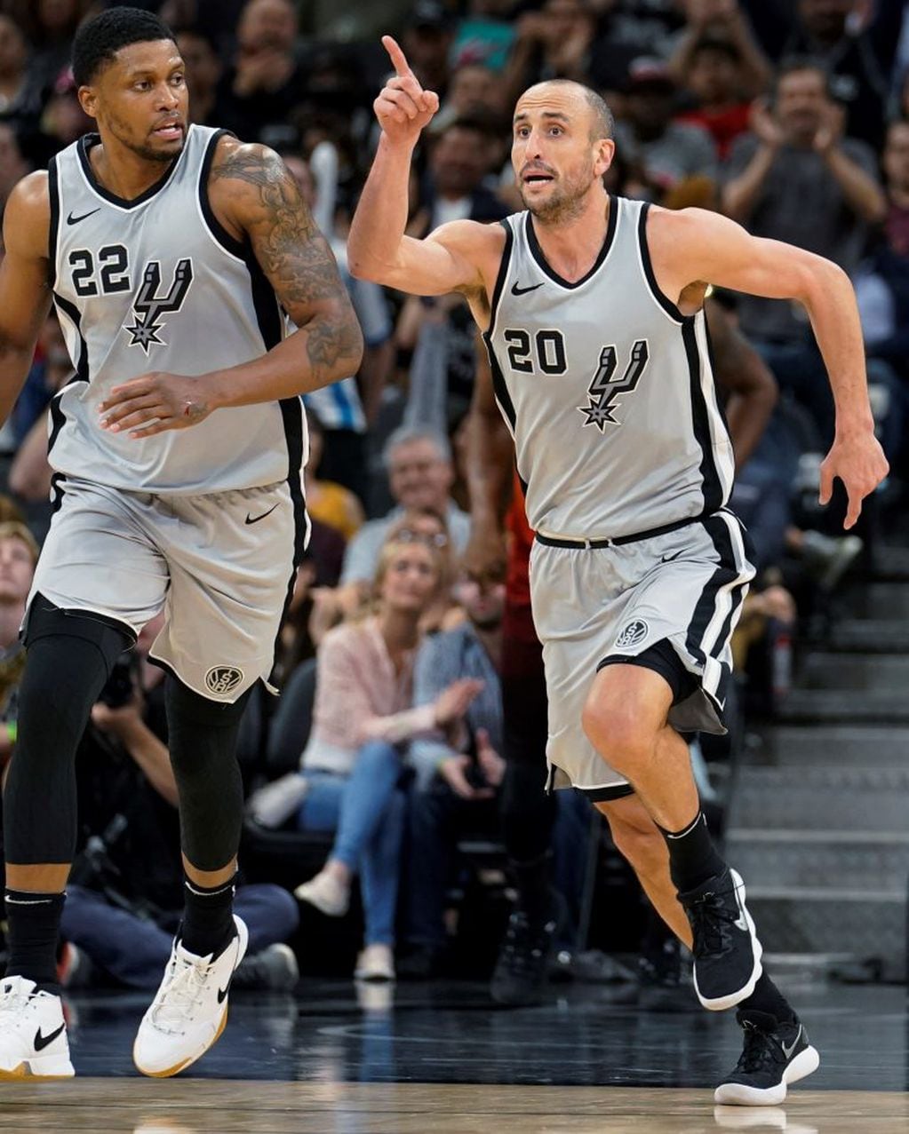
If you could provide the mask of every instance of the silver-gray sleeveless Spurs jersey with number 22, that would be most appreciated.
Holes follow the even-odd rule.
[[[111,488],[200,494],[300,483],[300,398],[218,409],[141,440],[100,428],[111,388],[149,371],[196,375],[250,362],[285,335],[247,245],[214,217],[208,179],[224,132],[192,126],[179,158],[134,201],[99,184],[89,135],[49,167],[51,282],[76,376],[51,403],[50,464]]]

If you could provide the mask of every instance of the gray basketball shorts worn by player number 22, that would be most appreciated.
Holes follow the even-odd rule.
[[[212,701],[268,680],[295,565],[286,481],[186,497],[69,477],[59,488],[30,604],[40,592],[133,634],[163,610],[151,658]]]

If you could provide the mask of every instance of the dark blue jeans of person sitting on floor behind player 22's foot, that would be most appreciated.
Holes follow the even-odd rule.
[[[103,894],[68,886],[60,930],[67,941],[124,984],[155,989],[170,957],[172,934],[108,903]],[[286,941],[300,923],[296,902],[279,886],[241,886],[234,913],[250,930],[247,954]]]

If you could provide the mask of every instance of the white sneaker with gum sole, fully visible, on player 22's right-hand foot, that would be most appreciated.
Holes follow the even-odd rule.
[[[234,922],[237,934],[217,957],[197,957],[175,939],[165,979],[133,1044],[133,1061],[143,1075],[167,1078],[179,1074],[224,1031],[230,981],[250,937],[236,914]]]

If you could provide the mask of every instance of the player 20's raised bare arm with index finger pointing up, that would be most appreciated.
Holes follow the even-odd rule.
[[[373,103],[382,133],[351,222],[348,266],[359,279],[411,295],[463,291],[474,301],[485,299],[483,261],[490,257],[497,240],[489,226],[462,220],[443,225],[424,240],[404,235],[411,159],[420,132],[438,110],[439,100],[420,86],[392,36],[382,36],[382,43],[395,75]]]

